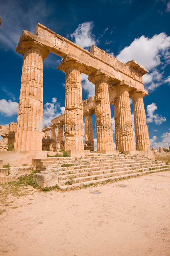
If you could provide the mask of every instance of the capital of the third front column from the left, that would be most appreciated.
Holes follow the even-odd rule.
[[[98,69],[94,73],[92,73],[89,77],[88,80],[92,83],[96,83],[97,81],[103,81],[107,83],[111,83],[115,79],[115,76],[103,69]]]

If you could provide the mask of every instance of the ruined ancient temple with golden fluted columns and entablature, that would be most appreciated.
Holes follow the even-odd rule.
[[[144,90],[142,76],[148,73],[147,69],[135,60],[122,63],[96,46],[89,52],[39,23],[35,35],[23,31],[16,51],[23,55],[14,144],[17,155],[32,157],[36,152],[37,157],[45,157],[50,148],[52,151],[64,149],[70,156],[84,156],[94,150],[92,115],[95,115],[97,152],[138,152],[153,156],[143,104],[148,92]],[[58,69],[66,74],[65,113],[43,130],[43,60],[49,52],[63,58]],[[82,101],[81,73],[87,74],[95,85],[95,95],[85,101]],[[133,101],[136,148],[129,99]]]

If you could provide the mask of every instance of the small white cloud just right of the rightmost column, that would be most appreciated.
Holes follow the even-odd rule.
[[[162,122],[166,121],[165,117],[162,117],[162,115],[154,114],[154,111],[157,110],[156,103],[153,103],[147,106],[147,123],[155,123],[155,124],[161,124]]]

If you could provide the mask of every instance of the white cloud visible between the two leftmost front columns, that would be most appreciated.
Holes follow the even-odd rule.
[[[43,125],[50,125],[51,119],[63,114],[63,108],[60,103],[57,102],[57,98],[52,98],[52,102],[46,102],[43,109]]]

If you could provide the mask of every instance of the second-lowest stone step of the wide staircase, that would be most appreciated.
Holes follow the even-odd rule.
[[[164,168],[163,168],[164,167]],[[168,166],[162,166],[162,168],[160,168],[160,166],[157,166],[157,167],[154,167],[155,168],[155,170],[156,169],[166,169],[166,168],[169,168]],[[140,169],[138,169],[138,172],[139,171],[149,171],[149,168],[147,167],[147,168],[140,168]],[[109,170],[110,172],[108,172],[107,173],[107,170],[105,170],[105,173],[102,173],[102,174],[98,174],[98,173],[93,173],[93,175],[91,175],[91,173],[90,172],[87,172],[87,173],[78,173],[78,174],[69,174],[69,175],[67,175],[67,179],[65,179],[66,178],[66,176],[65,175],[63,175],[63,176],[58,176],[58,179],[59,179],[59,184],[60,184],[60,186],[62,186],[62,185],[65,185],[65,183],[67,183],[68,181],[69,181],[69,179],[68,179],[68,177],[69,178],[73,178],[73,177],[75,177],[75,176],[77,176],[77,177],[75,177],[74,178],[74,180],[73,180],[73,184],[74,183],[82,183],[82,182],[84,182],[84,181],[90,181],[90,180],[96,180],[96,179],[102,179],[102,178],[108,178],[108,177],[113,177],[113,176],[117,176],[117,175],[121,175],[121,174],[129,174],[129,173],[135,173],[135,172],[137,172],[136,170],[132,170],[132,169],[130,169],[130,170],[114,170],[114,172],[111,172],[111,169]],[[104,172],[104,171],[103,171]],[[90,174],[89,176],[88,176],[88,174]]]

